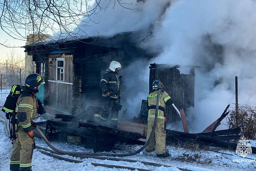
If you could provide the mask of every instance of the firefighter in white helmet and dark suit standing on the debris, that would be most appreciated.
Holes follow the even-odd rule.
[[[117,125],[118,111],[122,108],[120,105],[120,78],[117,75],[121,68],[122,66],[119,62],[112,61],[109,68],[102,75],[100,87],[105,105],[102,113],[94,114],[95,117],[101,120],[107,120],[109,113],[111,113],[111,123],[113,126]]]

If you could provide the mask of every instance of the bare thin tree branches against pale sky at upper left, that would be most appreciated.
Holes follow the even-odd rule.
[[[2,0],[0,1],[0,28],[10,37],[17,40],[26,40],[29,34],[38,35],[36,41],[41,41],[41,35],[55,35],[54,40],[62,38],[63,33],[67,37],[73,37],[72,32],[87,35],[84,27],[94,22],[92,15],[108,8],[112,2],[115,7],[130,9],[123,0],[95,0],[93,6],[89,0]],[[105,1],[105,0],[104,0]],[[84,18],[88,20],[85,21]],[[87,35],[88,36],[88,35]],[[50,36],[49,36],[50,37]],[[45,37],[44,37],[45,39]],[[34,42],[34,41],[33,41]],[[6,42],[0,43],[10,47]]]

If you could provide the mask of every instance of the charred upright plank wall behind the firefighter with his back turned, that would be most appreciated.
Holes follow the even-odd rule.
[[[172,98],[178,109],[188,109],[194,106],[195,74],[181,74],[177,67],[162,64],[150,65],[149,91],[152,90],[154,80],[160,80],[166,91]],[[166,107],[166,120],[172,122],[178,120],[179,116],[172,106]]]

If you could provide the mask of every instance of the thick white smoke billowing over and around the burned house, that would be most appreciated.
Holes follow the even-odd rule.
[[[203,131],[229,103],[235,102],[235,76],[238,76],[239,103],[254,105],[256,2],[173,0],[165,9],[168,2],[170,0],[146,0],[145,3],[127,6],[135,10],[125,9],[118,4],[113,9],[113,4],[110,4],[109,8],[91,16],[98,24],[90,22],[91,27],[83,29],[89,36],[94,36],[153,26],[152,36],[143,41],[141,47],[160,55],[150,62],[135,62],[123,69],[124,73],[131,73],[123,77],[123,86],[131,90],[131,94],[124,97],[127,106],[130,106],[128,113],[139,110],[141,99],[147,97],[148,65],[151,62],[181,65],[183,73],[196,66],[194,113],[187,113],[193,116],[188,116],[191,131]],[[136,93],[133,90],[139,91]]]

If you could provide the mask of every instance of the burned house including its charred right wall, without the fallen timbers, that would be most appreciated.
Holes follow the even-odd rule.
[[[36,62],[36,72],[45,78],[38,98],[49,113],[76,115],[83,111],[84,106],[101,106],[99,81],[112,60],[125,68],[136,60],[154,57],[137,46],[143,37],[140,33],[128,32],[114,36],[46,40],[25,46],[25,51]],[[194,105],[193,73],[181,74],[177,66],[151,64],[149,91],[156,79],[163,81],[165,91],[174,97],[178,108]],[[145,101],[142,104],[145,106]],[[176,112],[168,108],[167,120],[177,119]]]

